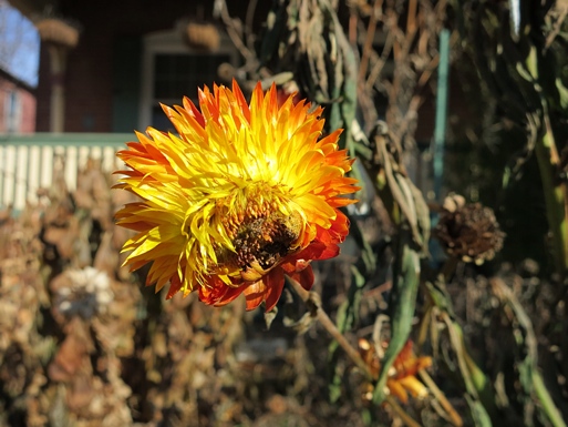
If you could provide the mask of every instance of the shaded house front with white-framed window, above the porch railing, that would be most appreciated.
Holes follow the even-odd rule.
[[[10,3],[35,22],[42,38],[38,132],[167,126],[159,102],[195,99],[198,87],[218,81],[220,64],[239,63],[208,0]],[[231,16],[245,19],[247,1],[227,3]],[[259,2],[257,13],[266,16],[269,6]]]

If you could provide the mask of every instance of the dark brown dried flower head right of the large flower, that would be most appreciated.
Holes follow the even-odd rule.
[[[434,236],[448,255],[481,265],[500,251],[505,234],[490,207],[467,204],[463,196],[454,194],[444,201]]]

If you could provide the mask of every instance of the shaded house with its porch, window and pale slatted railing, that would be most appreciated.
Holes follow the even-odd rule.
[[[196,100],[198,87],[228,83],[219,81],[219,65],[239,65],[238,50],[214,19],[218,2],[9,2],[34,22],[41,37],[34,92],[0,74],[0,132],[4,116],[13,131],[35,131],[0,139],[0,207],[12,205],[14,212],[25,201],[34,202],[38,190],[50,187],[58,165],[71,190],[87,159],[115,170],[114,152],[135,138],[134,130],[169,128],[159,103],[179,104],[184,95]],[[228,13],[245,21],[247,4],[228,0]],[[255,26],[269,7],[258,2],[254,17],[261,18],[255,18]],[[16,88],[17,94],[4,101]],[[23,113],[35,106],[29,106],[28,93],[35,95],[35,113]],[[23,121],[21,128],[17,120]]]

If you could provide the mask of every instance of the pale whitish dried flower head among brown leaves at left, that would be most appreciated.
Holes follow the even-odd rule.
[[[105,313],[114,296],[107,274],[93,267],[68,270],[54,282],[53,306],[65,317],[89,319]]]

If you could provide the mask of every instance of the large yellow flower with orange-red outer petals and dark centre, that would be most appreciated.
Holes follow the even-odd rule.
[[[310,262],[338,255],[349,232],[339,207],[358,190],[338,130],[320,139],[321,108],[257,84],[248,104],[233,90],[199,90],[199,110],[163,106],[176,133],[148,128],[118,156],[117,187],[142,199],[117,212],[137,234],[123,251],[137,270],[152,262],[147,285],[169,283],[167,297],[197,291],[206,304],[244,294],[247,308],[278,302],[285,274],[310,288]]]

